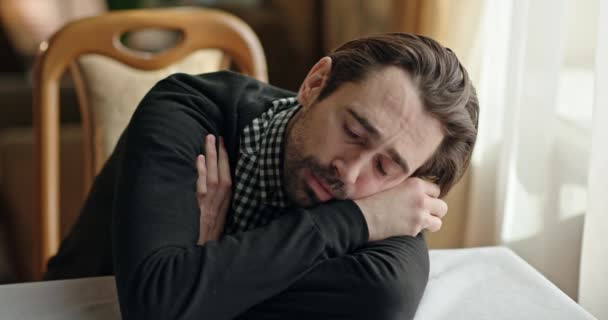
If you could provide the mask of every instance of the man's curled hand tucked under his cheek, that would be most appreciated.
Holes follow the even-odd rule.
[[[367,222],[369,240],[393,236],[416,236],[427,229],[441,228],[448,212],[445,201],[438,199],[439,186],[412,177],[398,186],[367,198],[355,200]]]

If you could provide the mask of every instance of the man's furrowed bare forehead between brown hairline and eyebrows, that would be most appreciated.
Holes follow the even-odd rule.
[[[415,170],[439,145],[438,120],[424,111],[411,77],[397,67],[371,73],[359,83],[345,83],[339,103],[366,118],[380,132],[379,147],[393,147]],[[338,92],[337,92],[338,93]]]

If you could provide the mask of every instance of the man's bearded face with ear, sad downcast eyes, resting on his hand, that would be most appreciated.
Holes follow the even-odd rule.
[[[289,125],[285,149],[285,191],[303,207],[394,187],[429,159],[443,138],[440,122],[424,112],[409,75],[397,67],[342,84],[317,101],[331,60],[326,64],[317,64],[300,89],[302,109]]]

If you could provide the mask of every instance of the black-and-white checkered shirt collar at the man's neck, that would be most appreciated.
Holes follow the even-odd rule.
[[[227,233],[266,225],[278,210],[266,214],[264,209],[287,206],[282,181],[284,141],[287,124],[299,109],[295,97],[275,100],[243,129]]]

